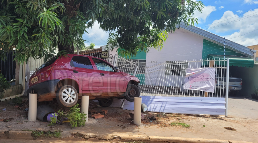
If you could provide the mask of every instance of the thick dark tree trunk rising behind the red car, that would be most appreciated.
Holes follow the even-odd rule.
[[[65,14],[68,15],[68,18],[75,17],[77,15],[77,10],[80,6],[80,3],[77,5],[74,5],[75,0],[63,0],[62,3],[64,3],[65,7]],[[65,33],[69,34],[69,25],[66,25]],[[62,45],[62,43],[58,44],[58,51],[66,50],[67,53],[74,54],[74,46],[72,45]]]

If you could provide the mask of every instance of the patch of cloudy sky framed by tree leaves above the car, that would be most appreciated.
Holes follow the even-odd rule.
[[[97,22],[94,23],[92,28],[87,29],[88,33],[83,35],[83,39],[87,40],[85,45],[89,45],[90,43],[95,44],[95,48],[99,48],[100,46],[107,44],[107,37],[109,35],[108,32],[99,29],[99,24]]]

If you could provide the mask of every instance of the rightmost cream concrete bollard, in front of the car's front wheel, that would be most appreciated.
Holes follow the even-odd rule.
[[[142,98],[134,97],[134,124],[141,123]]]

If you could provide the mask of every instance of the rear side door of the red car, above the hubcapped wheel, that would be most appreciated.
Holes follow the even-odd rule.
[[[84,91],[98,91],[99,76],[89,57],[74,55],[68,65],[70,72],[81,82]]]

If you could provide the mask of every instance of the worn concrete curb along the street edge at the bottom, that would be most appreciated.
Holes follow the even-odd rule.
[[[0,131],[1,138],[10,139],[28,139],[33,140],[31,131]],[[82,134],[79,132],[62,132],[61,138],[68,138],[70,135],[79,136],[86,140],[122,140],[122,141],[150,141],[150,142],[169,142],[169,143],[251,143],[235,140],[217,140],[205,138],[179,138],[179,137],[162,137],[162,136],[146,136],[146,135],[127,135],[127,134]],[[65,134],[63,136],[63,134]]]

